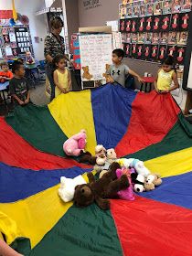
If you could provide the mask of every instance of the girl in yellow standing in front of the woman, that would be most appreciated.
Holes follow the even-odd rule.
[[[61,93],[68,93],[71,88],[71,77],[69,70],[66,68],[66,59],[63,55],[58,55],[53,59],[57,68],[53,73],[55,88],[55,97]]]

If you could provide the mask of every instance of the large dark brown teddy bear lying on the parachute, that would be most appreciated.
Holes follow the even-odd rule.
[[[110,201],[108,198],[116,197],[118,191],[130,186],[126,175],[117,179],[116,170],[118,168],[120,168],[118,163],[112,163],[109,171],[96,181],[92,173],[89,173],[90,183],[75,187],[75,205],[87,207],[95,201],[101,209],[109,209]]]

